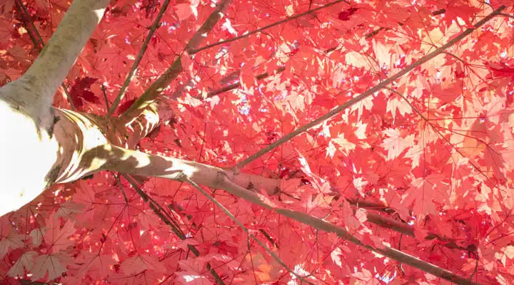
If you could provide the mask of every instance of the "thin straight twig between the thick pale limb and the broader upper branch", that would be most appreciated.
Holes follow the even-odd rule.
[[[111,105],[111,108],[107,111],[106,117],[109,118],[114,113],[114,110],[118,108],[118,105],[121,101],[121,99],[124,97],[127,88],[129,88],[129,84],[132,81],[134,73],[136,73],[136,69],[139,66],[139,63],[141,63],[141,60],[143,59],[144,53],[146,52],[146,48],[148,48],[148,43],[150,43],[151,38],[153,36],[153,33],[157,30],[159,26],[161,26],[160,21],[162,16],[164,15],[164,12],[166,12],[166,9],[168,9],[169,0],[164,0],[163,5],[161,7],[161,10],[159,10],[158,15],[153,21],[153,24],[148,28],[148,35],[146,35],[145,41],[143,42],[143,46],[141,46],[141,49],[139,50],[138,56],[136,57],[136,61],[132,64],[131,70],[129,71],[129,74],[125,78],[125,82],[123,86],[121,86],[121,89],[116,96],[116,99],[114,99],[114,102]]]

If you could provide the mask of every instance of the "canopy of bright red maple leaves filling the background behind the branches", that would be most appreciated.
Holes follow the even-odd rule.
[[[329,2],[233,1],[206,35],[208,46],[183,56],[183,72],[164,90],[173,118],[138,149],[232,167],[436,50],[493,7],[512,5],[336,2],[306,13]],[[20,76],[37,55],[31,31],[46,41],[67,6],[30,0],[0,6],[1,84]],[[113,2],[69,73],[68,94],[56,94],[56,107],[70,108],[71,101],[78,110],[105,115],[160,6]],[[213,6],[170,5],[115,114],[183,53]],[[512,6],[505,13],[514,14]],[[241,171],[282,180],[269,203],[346,227],[363,244],[399,249],[476,282],[512,284],[513,24],[508,14],[495,17]],[[313,284],[440,284],[336,234],[211,193]],[[413,234],[378,227],[370,213],[411,227]],[[54,185],[1,217],[0,277],[65,284],[299,284],[193,187],[155,178],[134,185],[111,172]]]

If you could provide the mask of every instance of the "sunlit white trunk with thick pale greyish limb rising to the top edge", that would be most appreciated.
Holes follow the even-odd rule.
[[[54,93],[108,4],[108,0],[74,1],[29,70],[0,88],[0,216],[41,194],[67,160],[54,136]]]

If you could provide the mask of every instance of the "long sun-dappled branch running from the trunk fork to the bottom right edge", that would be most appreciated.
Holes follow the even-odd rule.
[[[403,264],[408,264],[427,273],[439,276],[440,278],[452,281],[458,284],[476,284],[463,276],[458,276],[452,272],[442,269],[438,266],[430,264],[426,261],[405,254],[390,247],[372,247],[363,244],[360,240],[350,234],[343,227],[338,227],[324,219],[313,217],[309,214],[276,207],[273,204],[264,202],[259,195],[250,192],[239,185],[232,182],[226,172],[218,167],[209,165],[201,165],[196,162],[188,162],[178,160],[172,157],[162,157],[160,155],[149,155],[135,150],[126,150],[121,147],[109,146],[94,150],[99,157],[106,158],[104,169],[114,170],[118,172],[126,172],[134,175],[143,175],[151,177],[162,177],[170,180],[188,181],[191,180],[198,185],[206,185],[208,187],[226,190],[232,195],[236,195],[253,204],[270,209],[272,212],[289,217],[303,224],[307,224],[316,229],[325,232],[333,232],[339,237],[348,240],[353,244],[369,249],[385,257],[390,257]]]

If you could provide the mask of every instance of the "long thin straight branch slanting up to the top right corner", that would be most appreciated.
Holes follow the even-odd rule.
[[[427,61],[430,61],[430,59],[432,59],[432,58],[435,58],[435,56],[438,56],[440,53],[443,53],[443,51],[445,51],[447,48],[449,48],[450,46],[453,46],[455,43],[458,43],[458,41],[465,38],[465,36],[468,36],[470,33],[475,31],[476,28],[483,26],[490,19],[493,19],[493,17],[497,16],[498,13],[500,13],[500,11],[502,11],[503,9],[505,9],[505,6],[500,6],[500,8],[496,9],[488,16],[485,16],[484,19],[478,21],[477,24],[473,25],[473,28],[466,29],[465,31],[460,33],[458,36],[456,36],[455,38],[448,41],[448,43],[445,43],[443,46],[441,46],[440,48],[436,49],[435,51],[429,53],[428,55],[423,56],[423,58],[420,58],[420,60],[415,61],[414,63],[411,63],[410,66],[403,68],[403,70],[399,71],[395,75],[385,79],[381,83],[378,83],[376,86],[373,86],[372,88],[366,90],[361,95],[351,98],[350,100],[346,101],[346,103],[343,103],[342,105],[339,105],[337,108],[334,108],[330,112],[326,113],[326,115],[323,115],[323,116],[317,118],[316,120],[311,121],[311,123],[303,125],[300,128],[293,130],[293,132],[288,133],[287,135],[284,135],[282,138],[278,139],[276,142],[271,143],[271,145],[264,147],[262,150],[259,150],[254,155],[251,155],[250,157],[246,158],[245,160],[239,162],[236,165],[236,170],[240,170],[241,168],[248,165],[248,163],[253,162],[253,160],[256,160],[258,157],[261,157],[261,155],[269,152],[270,150],[273,150],[273,148],[278,147],[279,145],[282,145],[284,142],[288,142],[289,140],[291,140],[292,138],[295,138],[297,135],[300,135],[301,133],[305,132],[306,130],[323,123],[323,121],[328,120],[329,118],[332,118],[333,116],[337,115],[338,113],[345,110],[346,108],[349,108],[352,105],[355,105],[356,103],[361,102],[362,100],[368,98],[368,96],[372,95],[373,93],[377,92],[378,90],[381,90],[385,86],[388,86],[390,83],[392,83],[396,79],[409,73],[414,68],[420,66],[421,64],[423,64]]]

